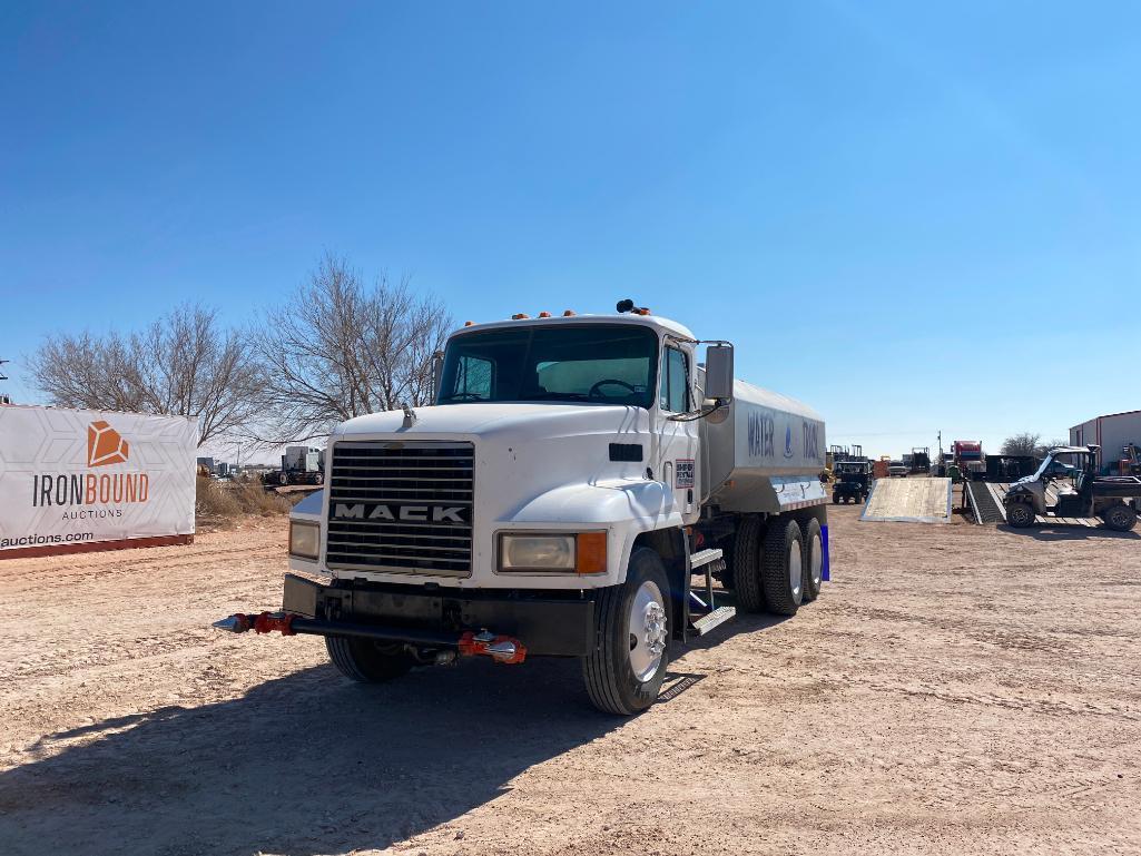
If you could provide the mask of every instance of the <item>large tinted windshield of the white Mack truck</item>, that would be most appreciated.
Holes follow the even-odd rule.
[[[657,336],[628,324],[487,330],[453,337],[438,404],[654,401]]]

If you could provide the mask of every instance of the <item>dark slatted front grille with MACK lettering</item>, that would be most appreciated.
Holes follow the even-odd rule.
[[[335,443],[326,564],[470,575],[474,469],[470,443]]]

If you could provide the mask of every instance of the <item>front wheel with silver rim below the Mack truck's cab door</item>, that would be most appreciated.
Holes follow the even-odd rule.
[[[645,547],[631,554],[626,581],[599,592],[594,651],[583,657],[582,673],[604,713],[629,717],[657,701],[670,661],[670,603],[662,559]]]

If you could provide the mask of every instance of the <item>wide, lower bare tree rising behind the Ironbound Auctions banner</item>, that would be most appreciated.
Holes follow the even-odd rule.
[[[202,306],[181,306],[129,336],[48,337],[29,369],[62,407],[197,417],[200,446],[240,433],[257,407],[246,338]]]

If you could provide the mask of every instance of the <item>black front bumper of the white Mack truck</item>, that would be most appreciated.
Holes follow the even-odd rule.
[[[337,580],[325,584],[285,574],[282,611],[337,624],[382,624],[410,633],[480,631],[521,640],[532,656],[585,656],[593,651],[591,592],[461,590]],[[346,633],[348,635],[348,633]]]

